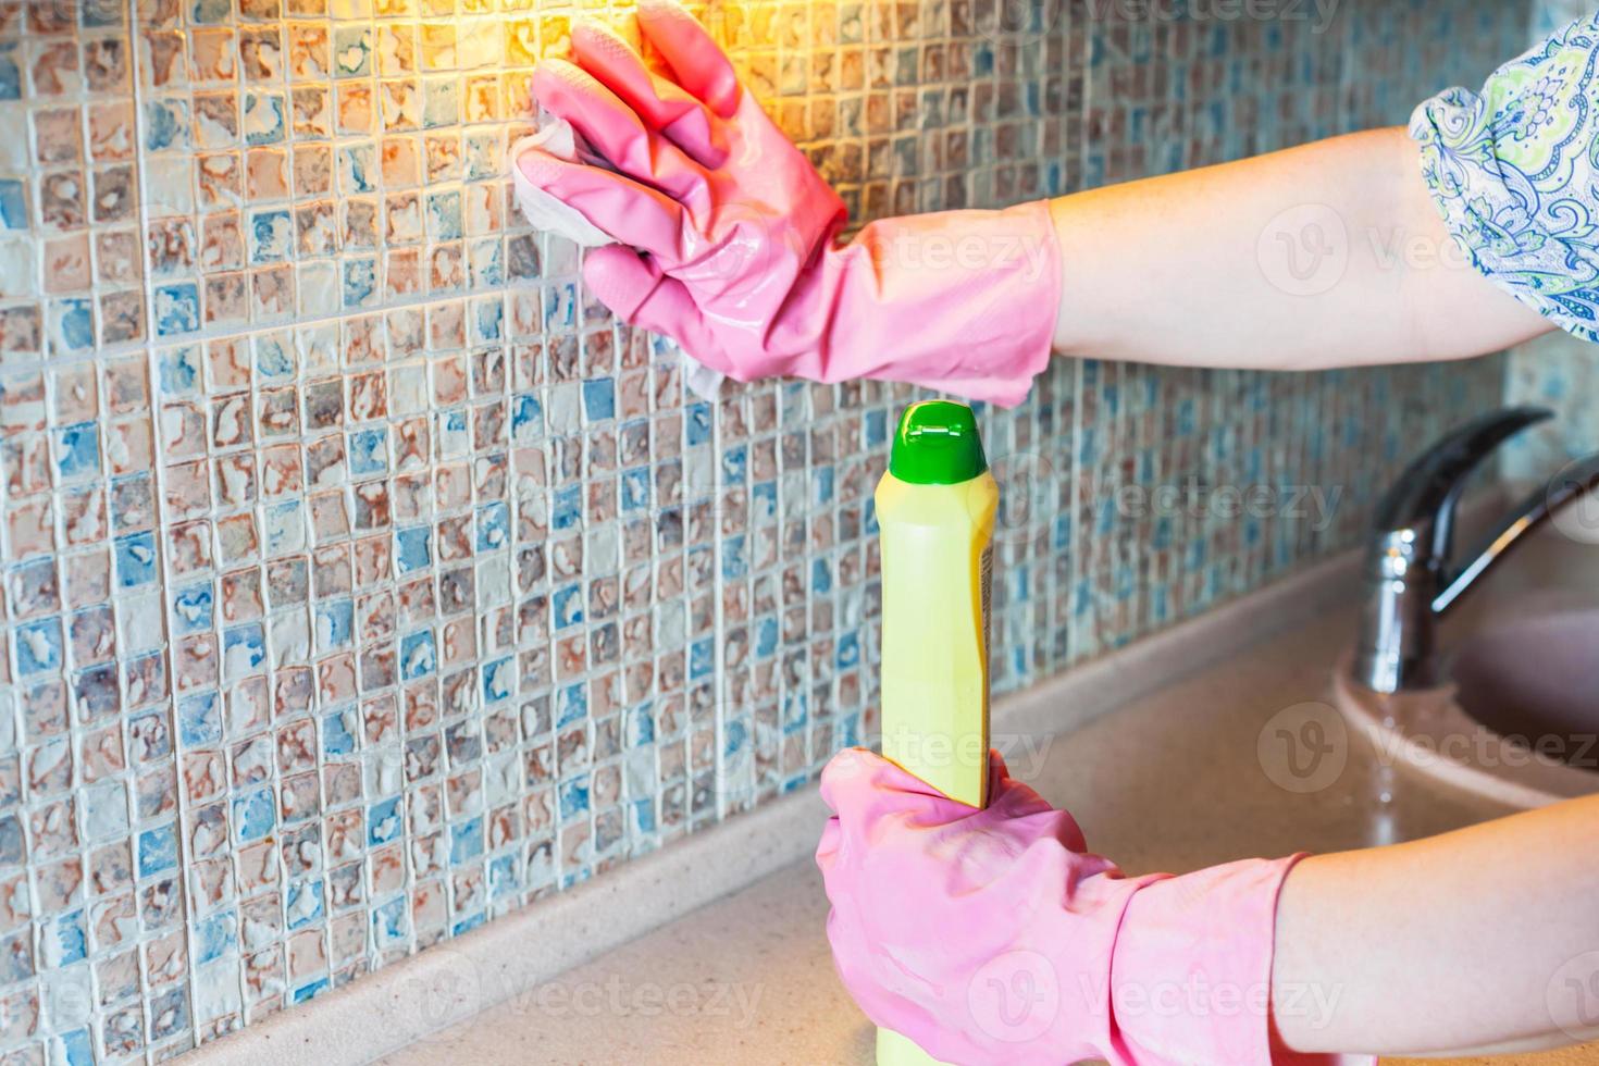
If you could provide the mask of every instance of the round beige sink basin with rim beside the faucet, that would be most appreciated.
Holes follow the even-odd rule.
[[[1439,628],[1442,684],[1335,692],[1378,758],[1516,807],[1599,791],[1599,543],[1549,524]]]

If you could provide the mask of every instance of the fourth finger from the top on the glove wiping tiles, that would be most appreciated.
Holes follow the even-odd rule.
[[[683,206],[672,197],[624,174],[568,163],[539,149],[523,152],[516,166],[529,182],[574,208],[620,243],[641,248],[665,262],[676,259]]]

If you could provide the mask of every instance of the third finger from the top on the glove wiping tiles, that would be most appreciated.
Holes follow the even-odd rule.
[[[532,72],[532,94],[547,112],[572,123],[628,177],[678,198],[704,184],[705,173],[697,163],[652,133],[632,107],[582,67],[564,59],[542,61]]]

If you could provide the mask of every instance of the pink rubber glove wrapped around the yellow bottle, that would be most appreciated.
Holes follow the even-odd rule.
[[[815,861],[838,973],[940,1061],[1258,1066],[1278,889],[1298,857],[1124,877],[990,756],[990,805],[868,751],[822,772]]]

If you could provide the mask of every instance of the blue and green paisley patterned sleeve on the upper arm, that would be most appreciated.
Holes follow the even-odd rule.
[[[1599,340],[1599,14],[1410,117],[1422,173],[1471,264]]]

